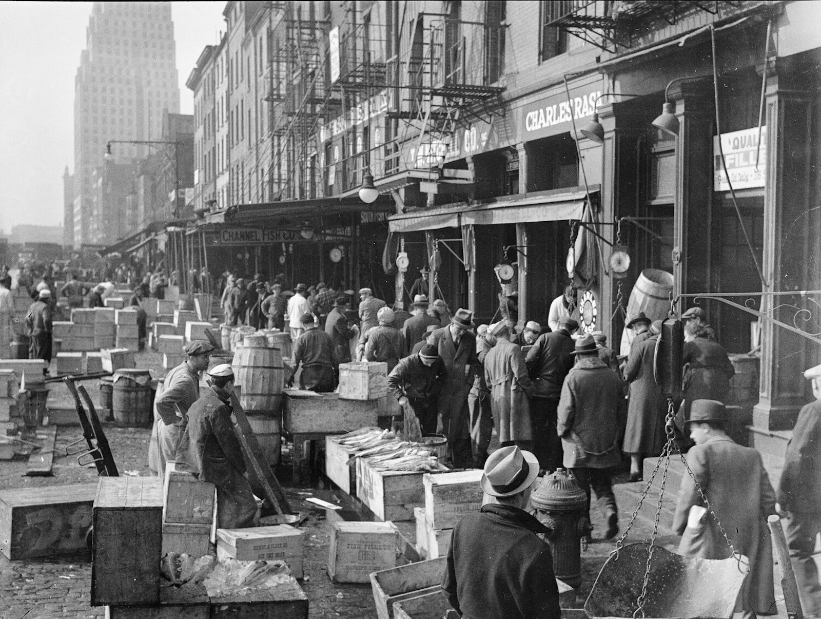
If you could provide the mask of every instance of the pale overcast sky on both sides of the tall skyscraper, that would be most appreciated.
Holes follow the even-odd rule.
[[[62,174],[74,172],[74,78],[92,2],[0,0],[0,231],[62,223]],[[225,2],[172,2],[180,111],[186,79],[225,30]]]

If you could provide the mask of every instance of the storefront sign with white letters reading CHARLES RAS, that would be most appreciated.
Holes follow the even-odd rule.
[[[521,140],[530,141],[572,131],[573,121],[579,122],[593,116],[596,99],[602,91],[592,89],[580,92],[571,90],[570,99],[564,90],[553,96],[530,103],[521,108]]]

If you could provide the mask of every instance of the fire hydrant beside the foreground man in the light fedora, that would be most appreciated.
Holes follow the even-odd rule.
[[[536,518],[551,530],[548,544],[556,577],[577,589],[581,585],[581,539],[592,530],[585,516],[585,491],[566,470],[557,469],[542,479],[530,502]]]

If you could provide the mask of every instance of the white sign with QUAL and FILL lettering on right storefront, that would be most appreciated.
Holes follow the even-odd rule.
[[[718,149],[718,135],[713,136],[713,190],[729,191],[730,183],[733,189],[749,189],[763,187],[767,178],[767,127],[742,129],[731,133],[722,133],[721,145],[724,150],[724,160],[727,162],[727,174],[721,161],[721,151]],[[760,148],[759,148],[760,146]],[[758,160],[758,166],[755,165]]]

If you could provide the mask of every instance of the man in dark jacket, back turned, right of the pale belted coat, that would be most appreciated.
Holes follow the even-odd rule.
[[[533,378],[530,419],[533,424],[533,451],[539,465],[551,473],[562,466],[562,441],[556,433],[562,384],[573,362],[573,334],[579,323],[570,316],[558,320],[557,331],[543,333],[527,351],[525,362]]]

